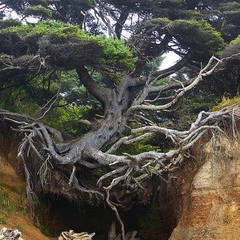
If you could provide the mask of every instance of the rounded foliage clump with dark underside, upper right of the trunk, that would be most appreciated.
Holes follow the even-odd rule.
[[[221,33],[204,20],[156,18],[142,25],[136,36],[135,44],[151,57],[173,51],[181,57],[205,62],[225,46]]]

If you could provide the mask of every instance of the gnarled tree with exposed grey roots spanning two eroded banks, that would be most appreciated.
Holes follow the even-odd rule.
[[[230,115],[230,110],[200,112],[187,130],[159,123],[161,114],[173,110],[188,92],[211,85],[226,69],[234,72],[229,63],[239,61],[239,28],[229,12],[233,6],[237,15],[239,4],[233,1],[2,1],[2,8],[14,9],[23,19],[39,18],[35,25],[8,20],[4,25],[4,20],[0,31],[2,102],[8,106],[10,97],[15,102],[24,96],[42,106],[37,117],[0,112],[2,121],[23,134],[19,156],[32,207],[32,193],[43,189],[76,200],[81,196],[93,205],[106,201],[125,239],[116,206],[131,207],[146,179],[174,175],[191,146],[207,131],[220,129],[220,116]],[[92,35],[103,32],[96,27],[106,28],[111,38]],[[123,41],[126,31],[130,36]],[[232,46],[233,52],[227,51]],[[159,70],[157,59],[169,51],[181,59]],[[185,79],[177,79],[181,71]],[[72,73],[99,108],[79,119],[88,131],[69,140],[44,120],[61,105],[67,84],[61,79]],[[178,75],[170,77],[173,73]],[[71,102],[76,104],[76,98]],[[124,146],[144,145],[156,135],[169,138],[173,148],[125,152]],[[64,176],[60,183],[59,176]]]

